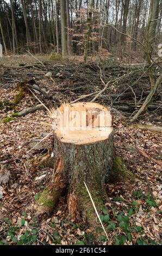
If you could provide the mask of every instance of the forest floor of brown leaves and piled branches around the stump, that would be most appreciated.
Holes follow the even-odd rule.
[[[83,221],[72,222],[64,197],[50,216],[33,216],[28,206],[38,199],[53,169],[42,162],[49,154],[50,137],[45,145],[29,151],[31,143],[38,142],[49,132],[49,128],[32,122],[50,123],[51,119],[43,109],[11,118],[0,125],[0,244],[162,244],[161,133],[147,129],[149,125],[161,126],[160,92],[155,94],[151,108],[142,117],[140,124],[147,126],[146,130],[141,130],[129,125],[129,117],[149,90],[148,74],[143,68],[135,71],[127,65],[110,62],[82,64],[47,60],[45,57],[40,63],[40,58],[37,61],[29,56],[0,59],[0,120],[37,103],[26,93],[20,103],[13,104],[17,83],[30,84],[34,80],[51,95],[47,100],[37,94],[39,99],[48,107],[57,107],[61,102],[74,101],[83,94],[103,89],[98,65],[105,82],[133,71],[118,83],[110,84],[97,98],[98,102],[112,107],[116,155],[123,162],[121,168],[126,170],[126,176],[120,182],[106,185],[107,198],[101,219],[109,241],[97,222],[95,234]],[[45,76],[47,72],[52,76]],[[158,76],[158,72],[160,68],[155,69],[154,76]]]

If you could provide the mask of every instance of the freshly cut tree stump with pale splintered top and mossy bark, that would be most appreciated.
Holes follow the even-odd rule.
[[[96,221],[85,184],[98,210],[103,208],[104,184],[112,175],[114,160],[113,119],[110,110],[94,102],[64,104],[53,111],[54,159],[53,181],[38,200],[52,208],[60,196],[67,194],[67,209],[72,216],[81,215],[89,223]],[[52,196],[52,199],[51,199]],[[48,207],[47,207],[48,208]],[[48,210],[48,209],[47,209]]]

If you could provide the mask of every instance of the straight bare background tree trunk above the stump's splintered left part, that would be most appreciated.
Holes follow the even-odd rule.
[[[61,5],[61,46],[63,58],[67,56],[67,37],[66,37],[66,2],[60,0]]]

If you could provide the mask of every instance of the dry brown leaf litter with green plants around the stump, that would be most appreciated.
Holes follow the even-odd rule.
[[[16,83],[16,80],[8,82],[10,86],[7,84],[1,89],[2,102],[14,99],[15,92],[12,88],[16,87]],[[39,84],[48,88],[47,93],[57,99],[55,106],[59,105],[63,100],[59,84],[49,78],[39,80]],[[16,105],[16,112],[34,105],[35,102],[33,97],[26,95]],[[1,118],[14,113],[7,107],[0,110]],[[134,177],[106,185],[108,197],[103,221],[105,220],[104,227],[108,230],[109,241],[99,229],[96,230],[98,238],[94,240],[91,230],[84,222],[71,222],[64,198],[60,199],[51,216],[39,219],[27,211],[27,206],[35,202],[36,195],[42,192],[51,179],[53,169],[41,166],[39,162],[39,157],[48,151],[47,144],[50,144],[51,137],[46,139],[45,147],[27,153],[29,143],[45,137],[49,132],[48,127],[26,121],[48,123],[51,119],[45,110],[40,110],[1,125],[1,244],[82,245],[87,241],[98,245],[161,243],[162,178],[158,164],[162,160],[160,133],[129,126],[126,119],[114,115],[116,154]],[[142,123],[148,124],[145,119]],[[159,122],[153,121],[153,124],[159,125]],[[128,228],[130,231],[126,235]]]

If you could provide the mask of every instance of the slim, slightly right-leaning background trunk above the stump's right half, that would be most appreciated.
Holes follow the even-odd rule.
[[[94,0],[91,0],[89,12],[88,12],[88,19],[87,19],[87,32],[86,32],[86,38],[85,38],[85,46],[84,46],[84,62],[87,60],[88,56],[88,45],[89,45],[89,39],[91,35],[91,25],[92,25],[92,9],[94,7]]]

